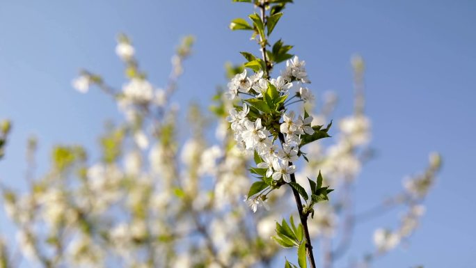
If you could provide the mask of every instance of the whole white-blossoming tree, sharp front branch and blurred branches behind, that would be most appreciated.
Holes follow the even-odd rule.
[[[251,3],[256,12],[249,20],[233,19],[230,29],[249,31],[260,54],[240,52],[245,63],[228,68],[228,90],[210,107],[214,143],[204,127],[211,116],[195,105],[189,107],[191,136],[177,138],[182,130],[170,96],[193,38],[184,38],[168,83],[157,88],[138,65],[132,41],[119,36],[122,88],[86,70],[73,86],[81,93],[100,88],[116,100],[124,120],[106,127],[100,159],[89,159],[79,145],[58,145],[49,171],[29,175],[27,189],[1,184],[20,251],[0,239],[0,267],[333,267],[358,223],[397,205],[407,208],[399,227],[376,228],[375,251],[349,265],[370,265],[410,237],[441,157],[431,154],[427,170],[404,180],[402,191],[356,213],[352,189],[372,152],[362,58],[351,60],[354,113],[334,118],[333,125],[335,96],[315,104],[305,62],[292,45],[271,41],[292,0],[235,1]],[[10,123],[0,130],[1,157]],[[324,138],[331,144],[322,145]],[[33,162],[36,141],[28,148]],[[297,258],[283,248],[296,248]]]

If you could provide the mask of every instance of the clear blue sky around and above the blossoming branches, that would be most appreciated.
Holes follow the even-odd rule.
[[[349,57],[367,62],[367,113],[378,158],[360,176],[358,207],[401,188],[402,177],[425,168],[427,153],[443,154],[444,168],[427,200],[427,214],[410,244],[374,267],[476,265],[476,2],[470,0],[299,1],[273,33],[305,59],[316,95],[335,90],[337,116],[351,111]],[[93,148],[115,104],[93,90],[74,91],[80,68],[120,86],[116,34],[132,37],[143,69],[161,86],[181,36],[197,38],[176,99],[206,105],[225,84],[225,61],[256,52],[248,33],[228,30],[251,6],[214,1],[0,1],[0,119],[14,121],[3,182],[20,184],[26,139],[40,139],[40,171],[55,143]],[[369,192],[369,196],[365,196]],[[390,217],[391,218],[391,217]],[[372,230],[358,229],[351,254],[372,248]],[[6,223],[0,216],[0,228]]]

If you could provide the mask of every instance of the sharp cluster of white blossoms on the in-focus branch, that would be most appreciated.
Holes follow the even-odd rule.
[[[308,88],[299,87],[290,97],[294,85],[308,82],[304,61],[295,56],[287,61],[287,68],[276,79],[264,78],[262,70],[247,76],[247,70],[236,74],[228,84],[228,96],[234,100],[242,98],[241,107],[230,109],[228,122],[237,146],[241,150],[255,152],[260,161],[257,168],[266,170],[265,177],[276,182],[291,182],[290,175],[296,171],[292,164],[297,161],[301,136],[312,136],[312,116],[304,113],[296,116],[289,111],[289,102],[294,97],[297,102],[313,99]],[[281,146],[276,145],[279,143]],[[259,198],[248,200],[253,212],[262,204]]]

